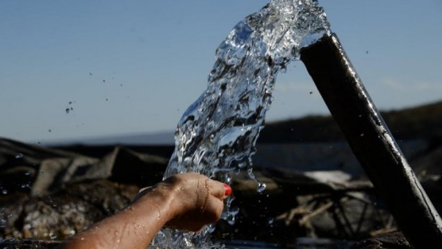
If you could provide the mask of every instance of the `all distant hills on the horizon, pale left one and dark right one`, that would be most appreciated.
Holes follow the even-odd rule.
[[[442,101],[404,110],[381,112],[395,139],[425,139],[442,136]],[[258,143],[295,143],[302,141],[342,141],[341,130],[328,116],[307,116],[266,123]],[[174,144],[174,131],[90,137],[52,141],[52,146],[83,145],[170,145]]]

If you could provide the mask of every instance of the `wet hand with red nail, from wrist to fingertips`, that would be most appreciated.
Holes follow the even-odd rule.
[[[136,200],[149,194],[169,198],[167,227],[197,232],[208,223],[218,221],[224,203],[231,194],[227,184],[198,173],[181,173],[142,189]]]

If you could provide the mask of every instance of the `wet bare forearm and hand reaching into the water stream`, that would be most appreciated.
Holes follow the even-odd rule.
[[[133,203],[76,234],[59,249],[145,249],[162,227],[197,232],[218,221],[229,185],[198,173],[173,175],[141,189]]]

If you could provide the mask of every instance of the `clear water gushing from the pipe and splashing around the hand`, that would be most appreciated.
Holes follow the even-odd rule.
[[[273,0],[236,24],[218,46],[205,92],[179,121],[175,151],[165,178],[199,172],[230,183],[229,173],[245,170],[250,178],[251,157],[272,102],[275,77],[300,49],[329,33],[325,12],[312,0]],[[265,185],[259,183],[257,191]],[[223,217],[234,222],[230,208]],[[162,230],[153,241],[158,248],[211,248],[209,235]],[[216,245],[215,245],[216,246]]]

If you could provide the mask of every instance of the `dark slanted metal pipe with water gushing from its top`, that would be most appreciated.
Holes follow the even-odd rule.
[[[442,220],[393,139],[338,37],[302,49],[301,60],[354,155],[415,248],[442,248]]]

